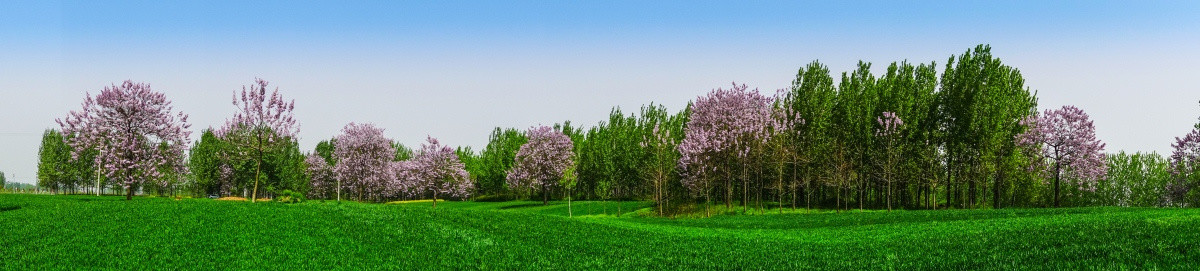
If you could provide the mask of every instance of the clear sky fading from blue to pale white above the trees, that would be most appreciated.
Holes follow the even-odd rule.
[[[4,1],[0,171],[36,182],[41,133],[126,79],[199,131],[269,80],[300,146],[371,122],[476,150],[494,127],[668,110],[732,82],[768,94],[814,60],[946,64],[976,44],[1039,108],[1076,106],[1108,151],[1169,153],[1200,116],[1200,1]],[[938,68],[941,70],[941,68]]]

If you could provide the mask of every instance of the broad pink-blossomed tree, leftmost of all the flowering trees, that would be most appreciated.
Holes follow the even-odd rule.
[[[95,162],[101,174],[124,185],[125,199],[133,198],[133,189],[144,180],[164,180],[163,169],[186,171],[184,151],[191,132],[187,115],[172,113],[173,107],[162,92],[149,84],[126,80],[120,86],[106,86],[96,98],[89,94],[82,110],[72,110],[66,119],[55,120],[78,158],[88,150],[97,150]],[[166,186],[166,183],[161,183]]]

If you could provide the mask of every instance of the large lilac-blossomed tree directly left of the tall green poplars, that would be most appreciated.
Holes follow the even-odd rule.
[[[697,97],[679,144],[683,185],[694,192],[702,189],[708,198],[709,174],[724,173],[725,205],[730,207],[733,167],[745,169],[754,144],[767,138],[763,132],[772,121],[770,103],[757,89],[748,91],[746,85],[738,84]],[[745,179],[743,188],[748,187]]]

